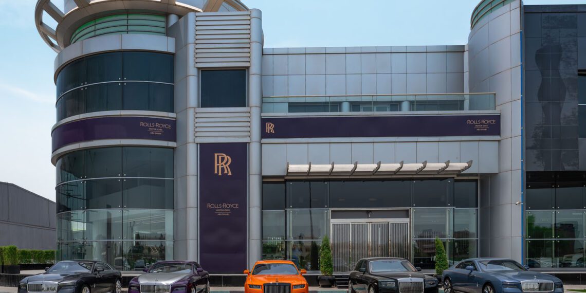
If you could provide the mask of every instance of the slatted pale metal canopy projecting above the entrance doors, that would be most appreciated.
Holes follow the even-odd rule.
[[[287,176],[352,176],[352,175],[455,175],[472,166],[465,163],[446,161],[443,163],[358,163],[353,164],[303,164],[287,162]]]

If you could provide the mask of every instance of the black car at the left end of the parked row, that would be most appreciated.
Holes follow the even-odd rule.
[[[60,261],[43,274],[23,278],[18,293],[120,293],[120,271],[102,261]]]

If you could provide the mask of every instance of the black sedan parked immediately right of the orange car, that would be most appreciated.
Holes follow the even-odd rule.
[[[348,293],[437,293],[438,282],[404,258],[363,258],[350,272]]]

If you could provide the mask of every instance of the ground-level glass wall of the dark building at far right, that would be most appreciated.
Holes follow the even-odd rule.
[[[586,173],[527,172],[526,264],[584,268]]]

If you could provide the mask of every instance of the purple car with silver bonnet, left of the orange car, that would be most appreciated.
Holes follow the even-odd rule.
[[[195,261],[158,261],[134,277],[128,293],[210,293],[207,271]]]

